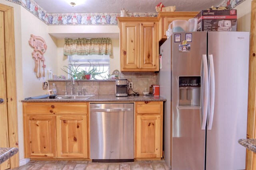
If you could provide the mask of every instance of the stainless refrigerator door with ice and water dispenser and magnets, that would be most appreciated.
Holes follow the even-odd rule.
[[[180,40],[184,40],[186,33],[180,34]],[[193,90],[196,93],[204,94],[201,90],[196,91],[196,87],[179,87],[179,78],[184,76],[202,77],[201,64],[202,55],[206,54],[206,32],[191,32],[192,42],[190,51],[180,51],[181,42],[174,42],[172,38],[172,170],[204,170],[204,152],[205,152],[205,130],[201,130],[202,124],[202,102],[200,106],[191,105],[179,106],[181,94],[189,101],[193,98]],[[190,35],[190,33],[187,33]],[[176,39],[178,40],[178,39]],[[201,85],[202,85],[202,78]],[[198,88],[202,89],[202,88]],[[195,94],[196,94],[195,93]],[[191,96],[192,95],[192,96]],[[199,96],[200,100],[203,100]]]

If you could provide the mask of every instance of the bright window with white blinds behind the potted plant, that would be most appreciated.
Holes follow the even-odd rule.
[[[96,67],[98,72],[102,72],[100,75],[96,75],[95,79],[103,80],[108,78],[109,72],[109,55],[72,55],[68,56],[68,67],[72,69],[76,67],[79,71],[90,71],[92,67]],[[91,68],[90,68],[91,66]],[[70,70],[68,70],[70,72]],[[68,74],[68,78],[70,74]]]

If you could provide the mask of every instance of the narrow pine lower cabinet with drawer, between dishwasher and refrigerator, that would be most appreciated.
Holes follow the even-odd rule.
[[[136,102],[135,119],[135,158],[162,158],[163,102]]]

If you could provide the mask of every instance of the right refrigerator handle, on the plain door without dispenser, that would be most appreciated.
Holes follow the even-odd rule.
[[[211,86],[211,99],[210,99],[210,114],[209,114],[209,123],[208,130],[212,129],[212,121],[214,114],[214,98],[215,98],[215,78],[214,78],[214,64],[212,54],[209,55],[209,67],[210,67],[210,86]]]

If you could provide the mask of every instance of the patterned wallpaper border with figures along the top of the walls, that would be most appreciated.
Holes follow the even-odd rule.
[[[34,0],[7,0],[21,5],[47,25],[118,25],[120,13],[47,13]],[[218,6],[235,8],[245,0],[224,0]],[[158,13],[128,13],[134,17],[157,17]]]

